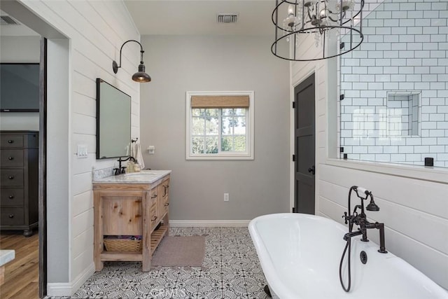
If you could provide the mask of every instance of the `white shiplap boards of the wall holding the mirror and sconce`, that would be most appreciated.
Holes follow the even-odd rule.
[[[95,159],[95,80],[102,78],[132,97],[131,132],[132,137],[139,137],[139,83],[131,79],[139,64],[137,43],[123,48],[123,67],[118,74],[112,71],[112,61],[119,60],[120,46],[128,39],[139,40],[139,32],[122,1],[33,0],[22,3],[69,39],[69,98],[60,99],[69,101],[69,118],[65,120],[69,127],[69,153],[66,153],[69,155],[69,187],[59,198],[48,198],[48,201],[68,201],[70,219],[59,219],[57,211],[48,210],[47,214],[53,218],[52,223],[68,224],[66,234],[70,248],[68,253],[59,253],[62,256],[59,258],[68,258],[69,269],[48,268],[48,295],[71,295],[93,270],[92,169],[113,167],[116,162],[116,159]],[[48,60],[51,59],[49,55]],[[52,84],[57,82],[48,82]],[[76,158],[77,144],[87,145],[87,159]],[[48,169],[49,176],[57,172],[57,167]],[[48,188],[51,187],[49,181]],[[57,246],[53,238],[48,235],[49,247]]]

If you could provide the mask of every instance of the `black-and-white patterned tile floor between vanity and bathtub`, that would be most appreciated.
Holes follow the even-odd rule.
[[[268,298],[247,228],[170,228],[170,235],[204,235],[203,267],[105,263],[72,297],[52,298]]]

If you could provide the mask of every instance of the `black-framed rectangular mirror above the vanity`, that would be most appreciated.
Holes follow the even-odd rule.
[[[131,97],[97,78],[97,159],[128,155]]]

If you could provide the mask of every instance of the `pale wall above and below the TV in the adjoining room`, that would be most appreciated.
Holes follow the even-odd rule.
[[[40,39],[41,36],[0,36],[0,62],[39,62]],[[0,128],[37,131],[39,113],[0,112]]]

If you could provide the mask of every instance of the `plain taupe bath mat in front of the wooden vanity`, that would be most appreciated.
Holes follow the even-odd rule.
[[[201,267],[205,253],[202,236],[164,237],[153,254],[151,266]]]

